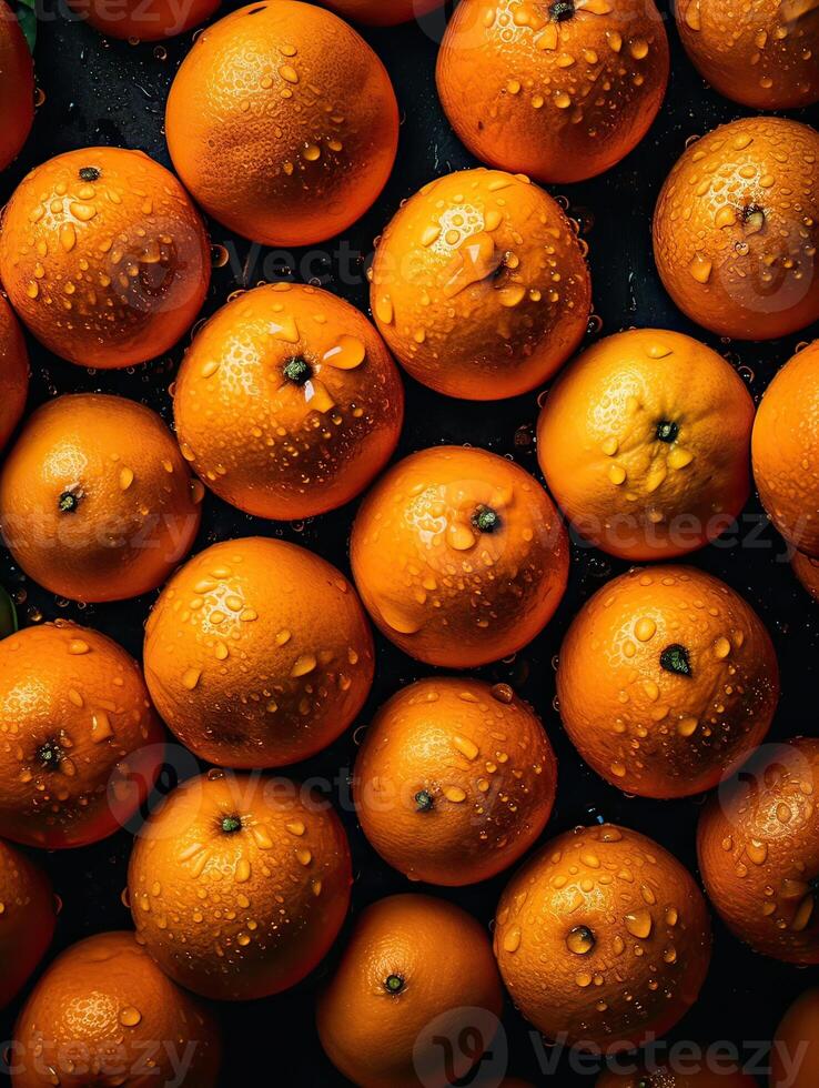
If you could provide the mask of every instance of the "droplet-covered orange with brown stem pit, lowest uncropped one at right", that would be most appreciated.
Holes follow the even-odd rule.
[[[558,836],[507,885],[495,955],[516,1007],[549,1039],[613,1052],[663,1036],[697,999],[710,921],[661,846],[604,824]]]

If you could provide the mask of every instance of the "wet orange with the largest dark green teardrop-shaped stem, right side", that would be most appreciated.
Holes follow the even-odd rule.
[[[761,619],[724,582],[695,567],[633,568],[577,614],[557,697],[599,775],[627,794],[689,797],[762,742],[779,667]]]

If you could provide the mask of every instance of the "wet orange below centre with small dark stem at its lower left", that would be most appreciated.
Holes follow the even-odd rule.
[[[413,880],[485,880],[524,854],[555,802],[557,762],[507,684],[435,677],[394,695],[355,762],[362,830]]]

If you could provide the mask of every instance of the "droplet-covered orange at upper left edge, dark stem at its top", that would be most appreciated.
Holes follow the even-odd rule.
[[[196,210],[141,151],[57,155],[23,178],[3,212],[9,300],[49,351],[80,366],[130,366],[171,349],[210,276]]]

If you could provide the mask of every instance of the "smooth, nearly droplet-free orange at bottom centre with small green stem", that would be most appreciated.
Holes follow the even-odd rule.
[[[502,1005],[483,927],[443,899],[394,895],[361,915],[316,1018],[330,1060],[361,1088],[444,1088],[447,1065],[466,1077],[491,1046]]]

